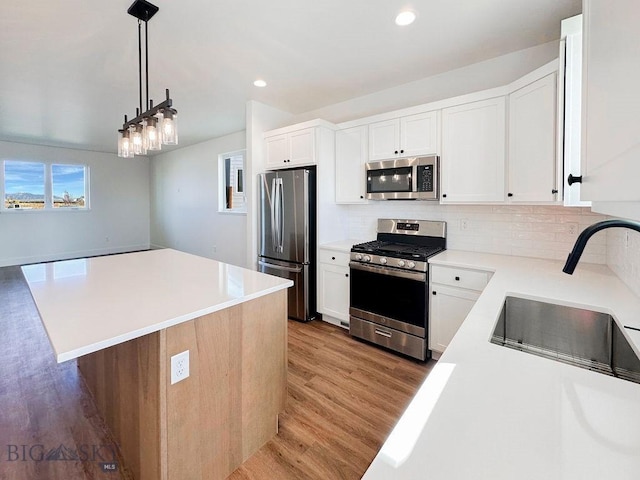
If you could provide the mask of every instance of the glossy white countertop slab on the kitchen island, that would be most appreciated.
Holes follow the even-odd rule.
[[[22,267],[58,362],[293,285],[171,249]]]

